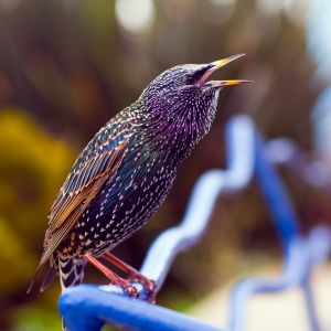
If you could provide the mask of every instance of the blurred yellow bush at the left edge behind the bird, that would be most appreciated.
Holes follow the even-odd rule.
[[[28,299],[49,209],[74,152],[18,109],[1,109],[0,132],[0,292],[8,308],[12,297]]]

